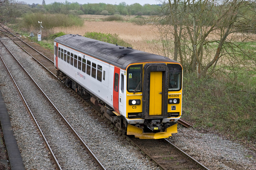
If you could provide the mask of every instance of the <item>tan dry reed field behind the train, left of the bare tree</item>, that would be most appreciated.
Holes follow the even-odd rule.
[[[135,25],[131,22],[102,21],[104,15],[82,15],[84,25],[82,27],[56,27],[53,33],[65,32],[67,34],[84,35],[85,32],[101,32],[118,34],[121,39],[130,43],[134,49],[158,54],[158,47],[153,43],[147,43],[158,39],[157,29],[150,25]],[[129,20],[126,16],[125,20]]]

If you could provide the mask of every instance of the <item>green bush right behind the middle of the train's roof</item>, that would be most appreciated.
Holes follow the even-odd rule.
[[[119,46],[132,47],[131,44],[120,39],[117,34],[104,34],[101,32],[86,32],[84,36],[91,39],[108,42],[111,44],[118,44]]]

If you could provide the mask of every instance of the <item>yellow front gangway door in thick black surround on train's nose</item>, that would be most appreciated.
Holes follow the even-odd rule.
[[[169,69],[164,63],[144,65],[142,113],[145,119],[167,118],[168,76]]]

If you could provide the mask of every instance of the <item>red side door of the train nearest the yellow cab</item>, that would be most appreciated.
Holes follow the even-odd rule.
[[[114,85],[113,85],[113,107],[117,113],[119,113],[119,75],[120,69],[115,67],[114,69]]]

